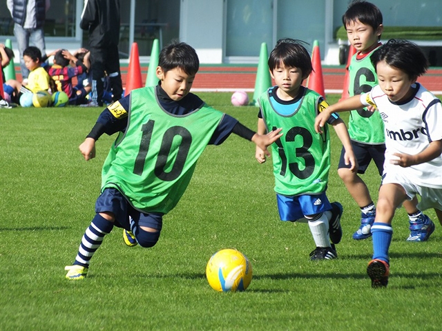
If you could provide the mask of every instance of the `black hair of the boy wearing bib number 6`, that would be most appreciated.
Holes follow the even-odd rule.
[[[349,23],[356,20],[371,26],[373,31],[376,31],[383,21],[382,12],[379,8],[374,6],[373,3],[368,1],[352,1],[348,6],[347,11],[343,14],[343,25],[345,30],[347,30],[347,25],[349,25]]]

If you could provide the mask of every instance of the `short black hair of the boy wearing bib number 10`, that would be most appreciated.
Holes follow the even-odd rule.
[[[186,74],[193,75],[200,69],[200,60],[191,46],[172,41],[161,50],[158,66],[162,68],[164,73],[174,68],[180,68]]]

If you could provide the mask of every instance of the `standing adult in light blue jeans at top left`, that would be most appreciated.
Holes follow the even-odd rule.
[[[44,21],[50,7],[50,0],[7,0],[8,9],[14,20],[14,35],[20,53],[20,68],[23,81],[27,81],[29,70],[23,60],[23,51],[32,45],[46,54],[44,42]]]

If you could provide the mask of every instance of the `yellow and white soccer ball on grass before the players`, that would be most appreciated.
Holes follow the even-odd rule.
[[[251,282],[251,263],[238,250],[220,250],[207,263],[206,277],[215,291],[244,291]]]

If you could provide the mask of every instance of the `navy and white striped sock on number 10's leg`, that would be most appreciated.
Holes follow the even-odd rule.
[[[84,232],[73,264],[89,268],[90,259],[92,259],[93,254],[102,244],[104,236],[110,233],[112,228],[112,222],[107,221],[99,214],[95,214],[94,219],[86,229],[86,232]]]

